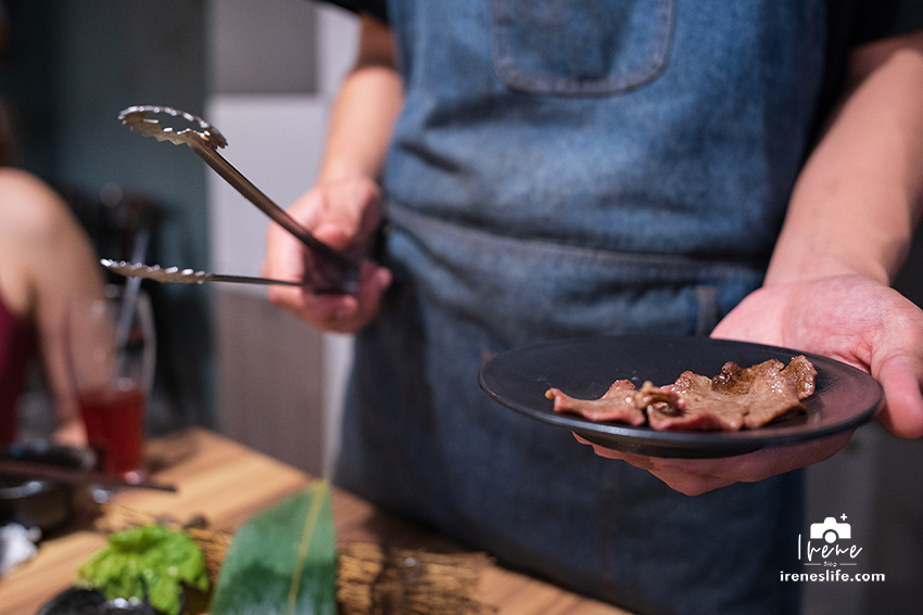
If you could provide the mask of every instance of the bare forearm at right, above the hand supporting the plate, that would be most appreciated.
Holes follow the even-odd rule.
[[[923,207],[923,33],[852,52],[849,94],[792,196],[767,285],[857,273],[890,283]]]

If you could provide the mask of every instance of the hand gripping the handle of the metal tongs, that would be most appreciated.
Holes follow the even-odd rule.
[[[319,241],[361,258],[368,253],[381,222],[381,195],[375,182],[366,178],[331,181],[316,185],[288,212]],[[304,245],[278,225],[269,226],[263,276],[303,280],[312,266],[312,255]],[[269,286],[269,298],[321,331],[354,333],[378,313],[390,284],[388,269],[365,260],[358,289],[352,294],[314,294],[306,287]]]

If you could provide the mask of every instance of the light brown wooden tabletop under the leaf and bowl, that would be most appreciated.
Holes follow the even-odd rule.
[[[131,490],[114,503],[185,521],[204,514],[235,528],[256,512],[303,489],[309,477],[289,465],[201,428],[152,440],[148,458],[153,476],[178,492]],[[340,542],[371,541],[413,548],[438,548],[444,539],[375,509],[344,491],[333,494],[333,518]],[[0,615],[35,615],[75,578],[77,565],[105,543],[102,535],[76,528],[45,540],[38,555],[0,579]],[[508,615],[630,615],[560,588],[489,566],[481,574],[478,599]]]

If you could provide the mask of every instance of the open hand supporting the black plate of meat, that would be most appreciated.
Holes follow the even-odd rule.
[[[766,286],[734,308],[712,336],[789,347],[862,369],[884,387],[881,423],[902,438],[923,436],[923,311],[884,284],[836,276]],[[602,457],[622,459],[678,491],[697,495],[818,463],[850,435],[710,460],[657,459],[592,446]]]

